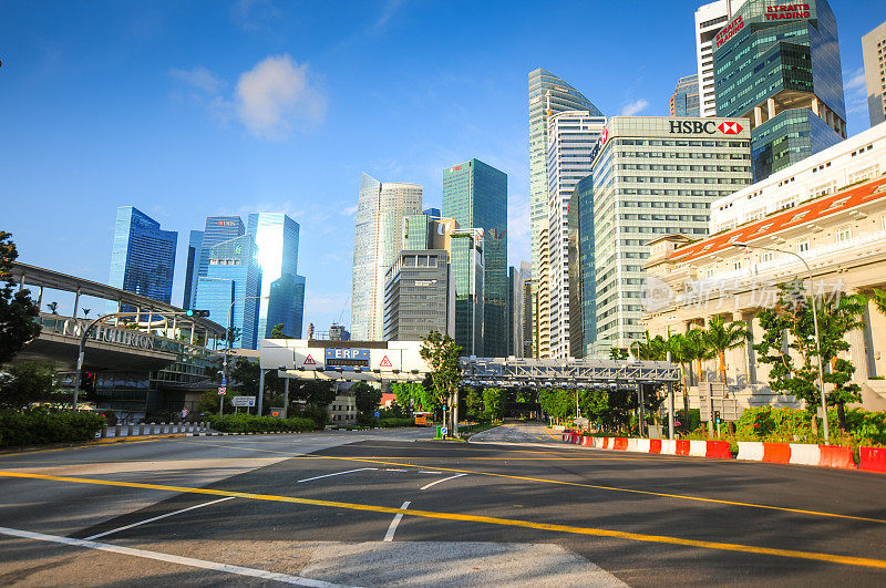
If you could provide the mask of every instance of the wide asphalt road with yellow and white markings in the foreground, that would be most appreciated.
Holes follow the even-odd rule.
[[[886,584],[886,476],[507,425],[0,455],[0,585]]]

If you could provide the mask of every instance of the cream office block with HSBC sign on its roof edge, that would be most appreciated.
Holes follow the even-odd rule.
[[[710,204],[751,184],[750,157],[744,118],[609,118],[594,156],[594,354],[642,337],[647,243],[708,235]]]

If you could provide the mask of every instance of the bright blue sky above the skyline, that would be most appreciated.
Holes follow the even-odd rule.
[[[306,326],[342,309],[348,323],[361,172],[419,183],[439,206],[444,167],[501,168],[519,265],[527,73],[554,72],[606,115],[667,115],[694,72],[699,3],[0,1],[0,229],[24,262],[106,281],[115,209],[136,206],[179,231],[181,303],[188,230],[286,212],[301,225]],[[861,38],[886,3],[832,7],[855,134]]]

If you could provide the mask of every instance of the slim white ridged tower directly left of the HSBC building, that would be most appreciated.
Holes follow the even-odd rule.
[[[569,357],[569,202],[575,185],[591,172],[590,152],[606,126],[606,117],[588,111],[548,116],[548,274],[550,357]]]

